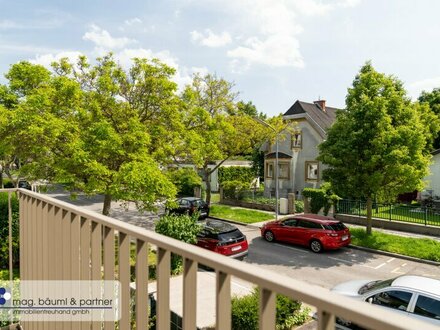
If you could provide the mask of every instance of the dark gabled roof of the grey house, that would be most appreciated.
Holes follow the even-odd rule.
[[[337,110],[337,108],[328,106],[325,106],[325,110],[322,110],[318,104],[298,100],[286,111],[283,117],[292,119],[304,117],[310,121],[319,134],[325,135],[325,131],[336,119]]]

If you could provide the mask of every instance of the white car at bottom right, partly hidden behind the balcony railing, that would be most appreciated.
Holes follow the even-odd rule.
[[[354,280],[341,283],[332,291],[431,322],[440,328],[439,280],[414,275],[385,281]],[[338,319],[338,324],[343,329],[357,327],[341,319]]]

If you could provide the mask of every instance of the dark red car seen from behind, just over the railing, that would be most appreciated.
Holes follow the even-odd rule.
[[[236,259],[243,259],[248,254],[246,236],[234,225],[220,220],[206,220],[197,237],[197,245]]]

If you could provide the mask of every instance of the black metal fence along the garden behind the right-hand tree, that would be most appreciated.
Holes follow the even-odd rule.
[[[367,216],[367,203],[340,200],[335,211],[340,214]],[[440,226],[440,210],[426,206],[373,202],[372,217],[389,221],[418,223],[425,226]]]

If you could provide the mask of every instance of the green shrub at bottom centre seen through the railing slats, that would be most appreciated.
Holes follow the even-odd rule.
[[[243,297],[233,297],[231,301],[232,329],[258,329],[258,306],[260,292],[257,288]],[[276,327],[277,329],[290,329],[303,317],[295,315],[304,313],[301,311],[301,303],[286,296],[276,295]],[[294,321],[293,321],[294,319]],[[295,322],[296,321],[296,322]],[[304,319],[305,321],[305,319]],[[299,325],[299,324],[296,325]]]

